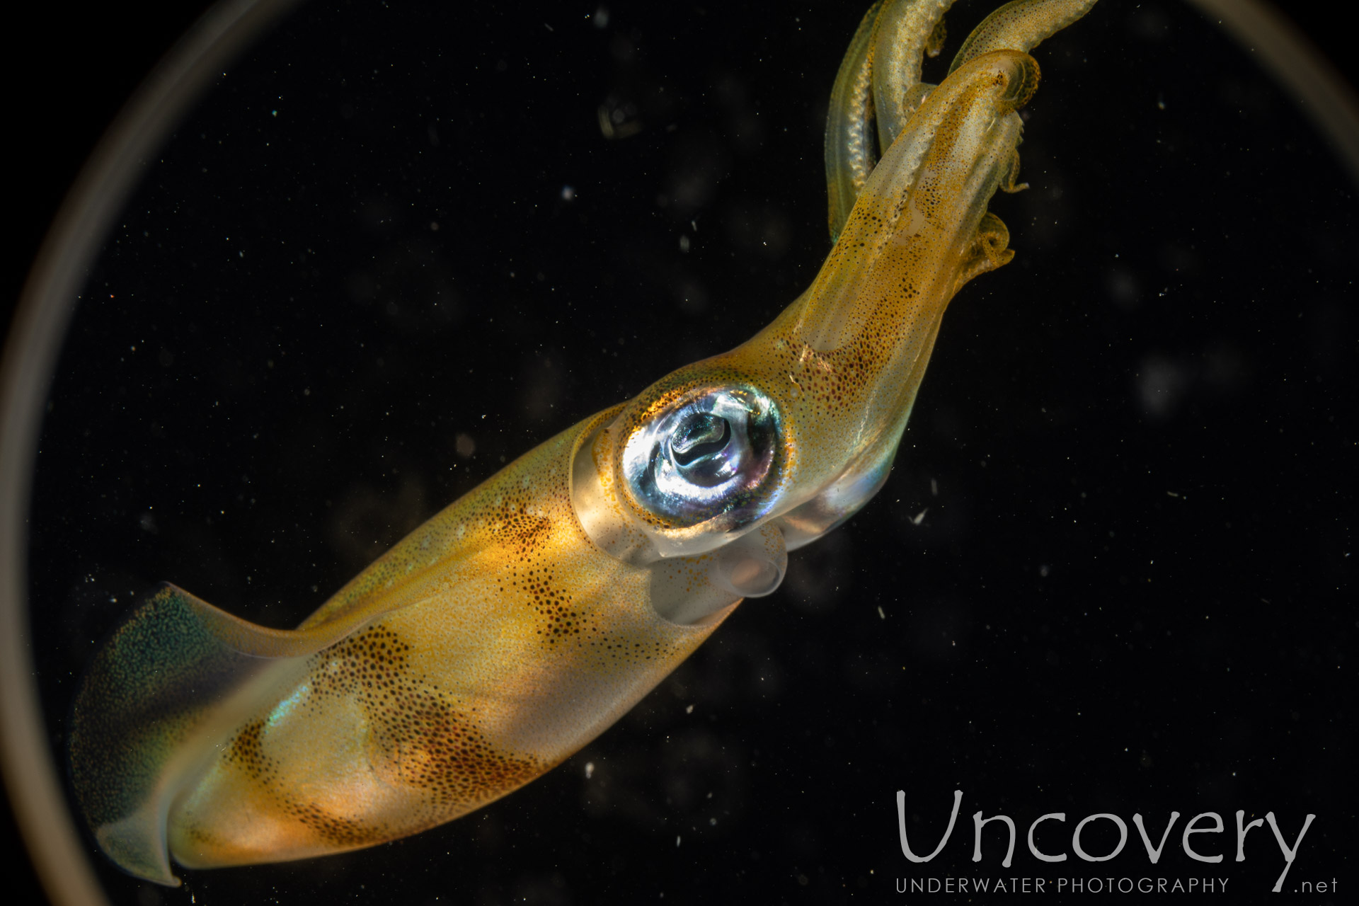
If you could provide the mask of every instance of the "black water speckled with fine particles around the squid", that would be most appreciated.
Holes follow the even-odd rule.
[[[54,751],[136,592],[170,579],[294,623],[501,456],[739,342],[811,278],[825,98],[862,10],[591,12],[306,8],[167,147],[45,427],[31,564]],[[962,4],[954,41],[983,12]],[[11,79],[29,162],[11,297],[99,129],[192,19],[107,16],[54,16]],[[972,872],[977,808],[1021,831],[1052,811],[1229,822],[1199,838],[1223,865],[1173,834],[1151,869],[1132,830],[1113,863],[1044,871],[1021,839],[983,875],[1263,894],[1282,860],[1264,829],[1231,863],[1243,808],[1290,838],[1318,815],[1288,888],[1348,883],[1352,193],[1181,5],[1106,0],[1036,56],[1033,187],[993,204],[1018,257],[950,310],[879,500],[542,781],[391,846],[190,872],[163,902],[878,902]],[[601,106],[640,132],[605,140]],[[897,789],[923,841],[965,792],[928,867],[900,854]],[[98,864],[118,902],[152,902]]]

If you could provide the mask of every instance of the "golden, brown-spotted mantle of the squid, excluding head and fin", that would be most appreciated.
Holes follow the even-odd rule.
[[[583,537],[565,481],[579,433],[431,519],[319,611],[413,599],[308,656],[232,733],[171,814],[178,863],[356,849],[480,808],[593,739],[720,623],[660,619],[648,572]]]

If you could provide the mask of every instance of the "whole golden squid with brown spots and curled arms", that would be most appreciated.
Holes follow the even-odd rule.
[[[480,808],[618,720],[788,551],[885,484],[949,302],[1014,257],[1029,56],[1094,0],[1018,0],[920,81],[950,0],[883,0],[836,77],[833,246],[735,349],[546,440],[292,630],[163,585],[77,693],[80,810],[124,871],[340,853]]]

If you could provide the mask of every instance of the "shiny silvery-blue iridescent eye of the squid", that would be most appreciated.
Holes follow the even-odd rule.
[[[779,410],[750,387],[703,390],[637,428],[622,448],[632,499],[667,527],[756,519],[779,450]],[[731,526],[735,527],[735,526]]]

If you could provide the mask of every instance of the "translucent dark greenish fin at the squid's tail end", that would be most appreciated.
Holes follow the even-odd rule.
[[[266,629],[162,587],[99,651],[75,702],[71,774],[99,846],[132,875],[178,884],[166,848],[175,797],[307,657],[370,619]]]

